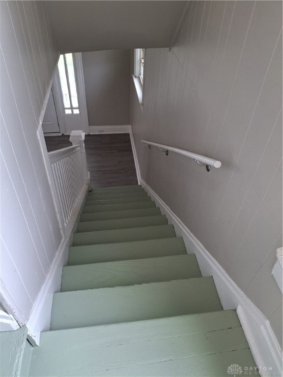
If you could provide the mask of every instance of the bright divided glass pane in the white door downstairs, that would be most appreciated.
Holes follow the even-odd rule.
[[[80,114],[73,54],[60,55],[58,71],[65,114]]]

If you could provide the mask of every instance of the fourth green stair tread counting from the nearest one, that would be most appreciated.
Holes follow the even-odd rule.
[[[182,237],[71,246],[68,266],[186,254]]]

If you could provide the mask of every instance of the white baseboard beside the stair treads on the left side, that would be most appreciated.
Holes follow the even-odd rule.
[[[62,268],[67,264],[69,245],[73,242],[73,233],[76,231],[77,222],[83,210],[87,192],[88,186],[85,185],[26,324],[28,328],[28,340],[33,346],[39,346],[40,332],[50,329],[53,294],[60,292]]]

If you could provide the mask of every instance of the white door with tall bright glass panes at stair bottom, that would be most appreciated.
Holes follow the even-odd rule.
[[[60,131],[89,133],[82,54],[60,55],[54,86]]]

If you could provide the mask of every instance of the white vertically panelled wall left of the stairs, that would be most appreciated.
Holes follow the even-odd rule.
[[[1,290],[27,323],[61,240],[37,136],[57,61],[41,1],[0,1]]]

